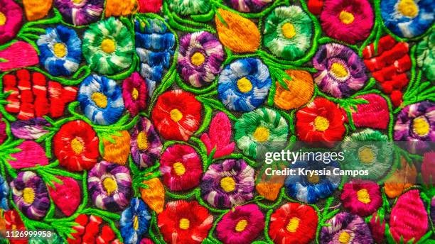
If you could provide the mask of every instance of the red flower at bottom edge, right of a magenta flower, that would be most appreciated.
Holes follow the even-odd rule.
[[[274,243],[309,243],[316,235],[318,217],[308,205],[284,204],[270,217],[269,235]]]

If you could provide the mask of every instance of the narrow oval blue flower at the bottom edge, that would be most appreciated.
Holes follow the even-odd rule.
[[[122,212],[121,235],[126,244],[140,243],[141,237],[148,231],[149,221],[148,206],[139,198],[131,199],[129,208]]]

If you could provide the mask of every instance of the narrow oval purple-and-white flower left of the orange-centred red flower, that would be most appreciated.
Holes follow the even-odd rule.
[[[159,135],[148,118],[141,118],[131,135],[131,157],[139,168],[154,165],[161,151]]]

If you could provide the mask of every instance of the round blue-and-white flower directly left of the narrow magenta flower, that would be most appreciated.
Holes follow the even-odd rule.
[[[80,84],[77,100],[85,116],[98,125],[115,123],[124,111],[121,87],[114,80],[97,74]]]

